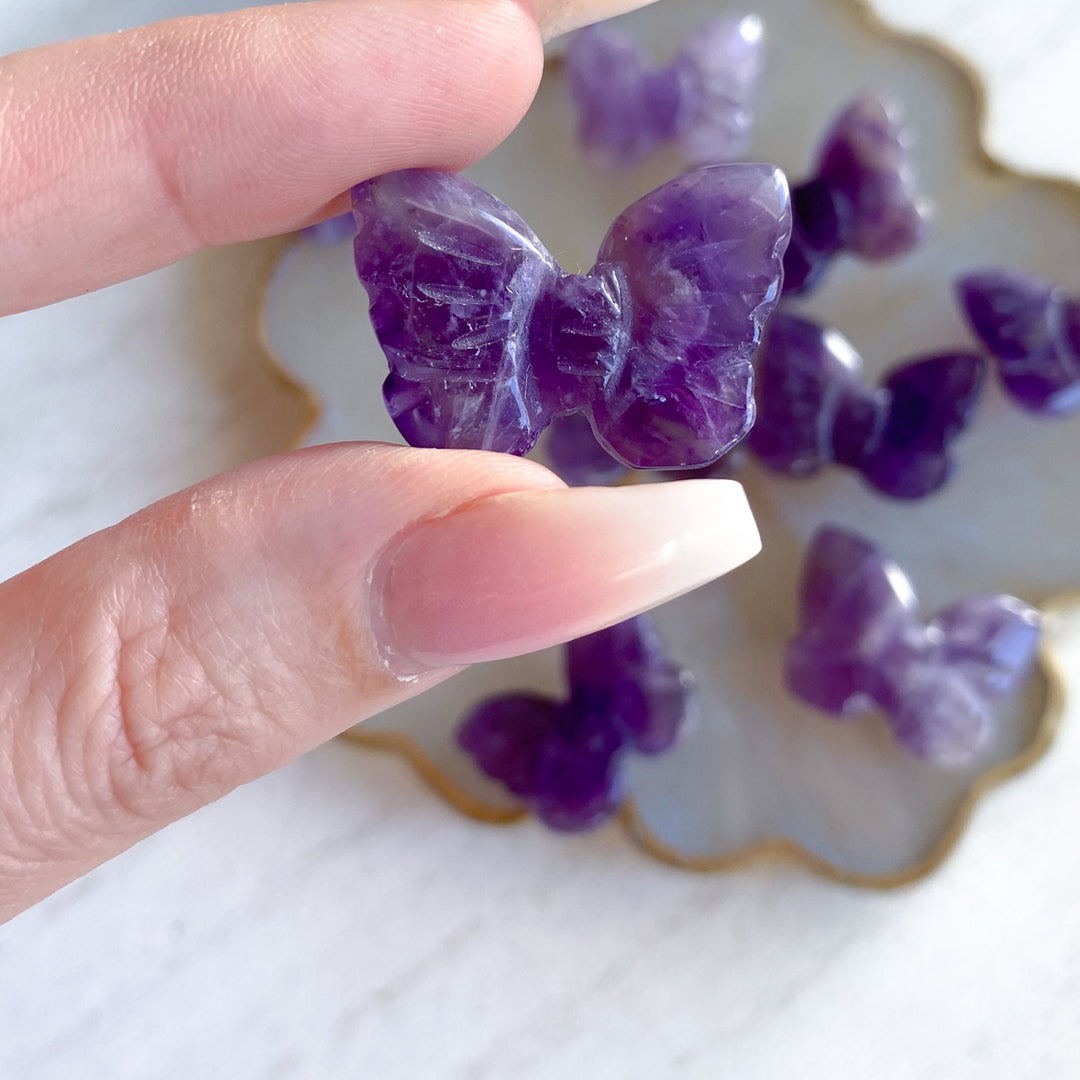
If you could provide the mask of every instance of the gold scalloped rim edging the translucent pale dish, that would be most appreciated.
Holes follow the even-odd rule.
[[[892,41],[904,42],[923,49],[951,65],[966,80],[973,96],[975,110],[975,148],[983,165],[995,172],[1011,173],[1022,179],[1048,187],[1064,189],[1071,195],[1080,195],[1080,186],[1061,176],[1047,176],[1022,168],[995,158],[987,148],[986,130],[988,117],[988,94],[982,76],[962,53],[951,45],[915,30],[904,30],[890,25],[873,6],[872,0],[847,0],[870,28]],[[549,59],[554,67],[558,58]],[[322,413],[319,396],[307,383],[299,380],[274,352],[269,342],[266,325],[266,310],[269,287],[282,260],[296,243],[296,235],[284,238],[265,268],[258,286],[259,302],[255,319],[256,342],[270,368],[283,387],[294,394],[306,407],[307,417],[300,431],[286,444],[294,448],[311,433]],[[1053,597],[1043,607],[1045,615],[1080,605],[1080,591],[1068,592]],[[964,797],[953,812],[945,831],[930,851],[910,866],[893,874],[858,874],[841,869],[820,855],[815,855],[801,845],[783,837],[768,837],[745,848],[723,855],[687,855],[660,839],[646,824],[633,800],[626,799],[620,808],[617,821],[625,836],[640,851],[679,869],[694,873],[718,873],[741,869],[757,863],[782,861],[808,869],[823,878],[843,885],[865,889],[896,889],[918,881],[935,870],[956,847],[963,834],[975,807],[983,797],[1005,780],[1035,765],[1049,750],[1061,725],[1066,706],[1066,679],[1050,643],[1042,642],[1039,652],[1040,667],[1047,679],[1047,701],[1030,743],[1015,757],[991,766],[972,782]],[[527,811],[519,808],[495,807],[473,796],[446,775],[436,762],[413,739],[400,732],[351,729],[341,738],[366,750],[396,754],[405,759],[424,783],[444,801],[461,814],[492,825],[509,825],[524,820]]]

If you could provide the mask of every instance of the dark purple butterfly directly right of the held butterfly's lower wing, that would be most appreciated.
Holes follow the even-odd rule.
[[[878,387],[839,332],[781,312],[757,359],[757,422],[747,445],[770,469],[809,476],[827,464],[879,491],[919,499],[951,473],[949,447],[968,426],[986,373],[973,353],[894,367]]]

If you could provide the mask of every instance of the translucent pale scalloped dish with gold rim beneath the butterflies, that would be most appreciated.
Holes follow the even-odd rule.
[[[724,10],[665,0],[621,22],[659,57]],[[880,92],[905,110],[922,189],[935,206],[914,254],[879,266],[841,258],[794,310],[839,327],[877,375],[901,359],[975,347],[953,298],[959,272],[1005,266],[1080,292],[1080,189],[988,159],[969,73],[933,46],[889,32],[854,0],[761,0],[753,11],[765,21],[767,57],[747,160],[775,162],[799,179],[837,110]],[[470,175],[522,214],[567,269],[584,270],[616,215],[680,168],[674,152],[630,172],[591,165],[575,144],[556,57],[524,123]],[[400,442],[382,408],[386,362],[349,243],[296,242],[283,252],[265,333],[276,361],[319,403],[308,443]],[[888,500],[850,472],[794,481],[752,462],[739,474],[762,554],[659,611],[673,657],[700,683],[702,708],[673,751],[630,761],[620,821],[651,854],[694,869],[785,854],[854,883],[901,883],[937,865],[978,797],[1047,747],[1061,706],[1053,610],[1080,604],[1067,598],[1080,586],[1080,415],[1040,419],[991,383],[956,444],[955,477],[926,500]],[[795,629],[801,555],[824,523],[879,542],[909,573],[928,613],[981,592],[1013,593],[1051,612],[1040,673],[1001,704],[997,734],[970,768],[921,762],[880,718],[837,723],[784,690],[781,656]],[[559,662],[552,650],[473,667],[352,735],[408,756],[459,810],[512,822],[519,808],[456,748],[455,729],[487,694],[559,693]]]

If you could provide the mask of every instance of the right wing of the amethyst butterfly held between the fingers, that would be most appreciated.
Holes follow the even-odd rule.
[[[630,340],[592,417],[620,460],[703,467],[746,434],[751,356],[780,295],[789,235],[786,180],[755,164],[687,173],[611,226],[593,272],[621,283]]]

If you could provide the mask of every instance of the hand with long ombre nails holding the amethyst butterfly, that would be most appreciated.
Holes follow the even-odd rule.
[[[636,5],[549,4],[559,27]],[[540,42],[513,0],[321,0],[0,59],[0,314],[463,167],[528,107]],[[728,481],[570,490],[478,451],[316,447],[164,499],[0,584],[0,917],[463,664],[757,543]]]

